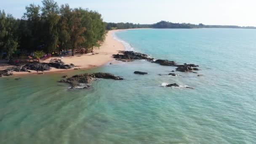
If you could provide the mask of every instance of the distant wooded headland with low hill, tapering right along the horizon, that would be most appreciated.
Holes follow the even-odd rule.
[[[204,24],[186,24],[172,23],[168,21],[160,21],[152,24],[152,28],[157,29],[192,29],[192,28],[240,28],[240,29],[256,29],[256,27],[239,27],[239,26],[223,26],[223,25],[204,25]]]

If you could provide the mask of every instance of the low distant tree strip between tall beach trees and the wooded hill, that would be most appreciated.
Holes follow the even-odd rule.
[[[133,24],[133,23],[106,23],[107,30],[113,30],[113,29],[137,29],[137,28],[151,28],[152,24]]]

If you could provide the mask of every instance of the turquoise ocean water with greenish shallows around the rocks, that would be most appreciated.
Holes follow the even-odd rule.
[[[160,76],[175,67],[139,60],[1,77],[0,144],[256,144],[256,30],[135,29],[114,37],[127,50],[198,64],[203,76]],[[125,80],[82,90],[57,82],[91,72]]]

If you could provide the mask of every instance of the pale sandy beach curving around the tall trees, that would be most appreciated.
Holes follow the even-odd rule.
[[[125,30],[127,30],[127,29],[125,29]],[[117,54],[118,51],[125,50],[124,45],[120,41],[115,40],[112,36],[112,34],[117,31],[122,31],[122,29],[109,31],[107,33],[104,43],[99,48],[93,48],[93,52],[98,53],[98,54],[94,54],[94,55],[92,55],[91,53],[83,54],[83,55],[77,54],[75,56],[65,56],[64,59],[61,59],[61,60],[65,64],[74,64],[75,66],[79,66],[79,67],[75,67],[75,68],[80,68],[80,69],[101,67],[104,64],[107,64],[109,61],[115,60],[112,58],[112,55]],[[60,59],[60,56],[53,57],[52,59],[54,59],[54,58]],[[41,61],[41,62],[48,63],[50,60],[51,59]],[[10,67],[10,66],[2,64],[2,65],[0,65],[0,70],[7,69],[8,67]],[[75,68],[73,68],[73,69],[75,69]],[[46,72],[63,72],[66,70],[71,70],[71,69],[52,68],[49,71],[44,71],[44,73],[46,73]],[[37,72],[31,70],[31,73],[29,73],[29,72],[13,72],[13,75],[24,75],[24,74],[35,74],[35,73],[37,73]]]

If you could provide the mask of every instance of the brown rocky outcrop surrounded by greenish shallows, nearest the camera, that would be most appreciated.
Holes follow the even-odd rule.
[[[96,78],[104,78],[104,79],[113,79],[113,80],[124,80],[123,77],[115,76],[110,73],[98,72],[93,74],[81,74],[81,75],[74,75],[67,79],[62,79],[60,83],[69,83],[72,88],[90,88],[90,84]],[[81,86],[82,85],[82,86]]]

